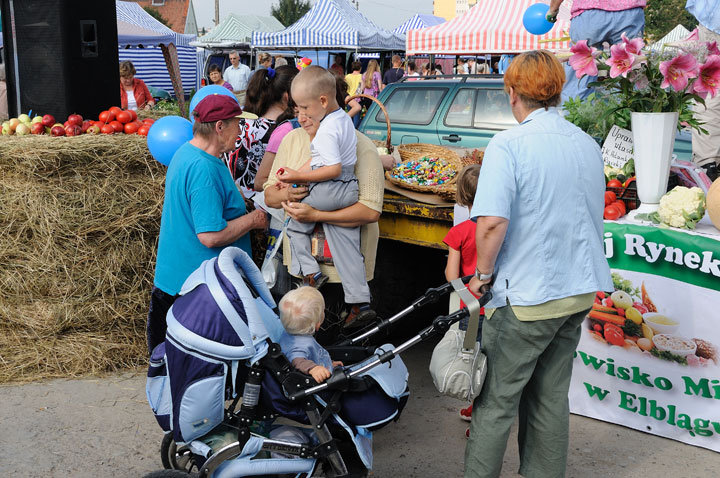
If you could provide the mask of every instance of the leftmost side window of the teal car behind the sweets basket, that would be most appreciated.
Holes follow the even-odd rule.
[[[447,88],[398,87],[385,101],[391,123],[430,124]],[[379,110],[375,121],[384,123],[385,114]]]

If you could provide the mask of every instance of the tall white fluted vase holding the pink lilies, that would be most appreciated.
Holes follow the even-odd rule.
[[[632,113],[633,159],[640,207],[635,213],[657,211],[667,191],[675,146],[678,113]]]

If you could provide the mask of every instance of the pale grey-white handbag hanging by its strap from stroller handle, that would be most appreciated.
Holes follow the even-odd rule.
[[[459,400],[472,401],[480,394],[487,374],[487,357],[480,350],[477,332],[480,303],[462,280],[450,282],[470,312],[466,331],[454,324],[438,342],[430,358],[430,375],[438,392]]]

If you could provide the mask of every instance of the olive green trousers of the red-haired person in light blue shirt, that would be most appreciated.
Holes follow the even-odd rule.
[[[488,371],[473,404],[465,478],[500,476],[516,415],[518,473],[528,478],[565,476],[568,388],[573,352],[587,312],[523,322],[505,306],[485,321],[482,348]]]

